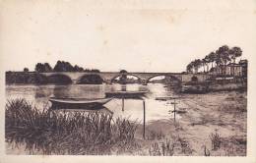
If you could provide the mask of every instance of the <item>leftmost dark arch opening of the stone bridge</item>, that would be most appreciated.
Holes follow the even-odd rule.
[[[47,77],[47,83],[70,84],[72,80],[69,76],[63,74],[53,74]]]

